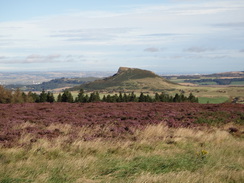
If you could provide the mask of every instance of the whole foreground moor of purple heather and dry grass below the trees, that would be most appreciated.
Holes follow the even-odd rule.
[[[244,106],[0,105],[0,182],[243,182]]]

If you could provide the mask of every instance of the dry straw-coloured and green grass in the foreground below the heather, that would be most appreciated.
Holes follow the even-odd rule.
[[[24,146],[0,149],[1,183],[244,181],[243,139],[220,129],[159,124],[136,131],[136,140],[78,138],[68,143],[71,126],[47,128],[64,135],[30,143],[31,135],[26,134],[19,140]],[[82,137],[92,130],[79,131]]]

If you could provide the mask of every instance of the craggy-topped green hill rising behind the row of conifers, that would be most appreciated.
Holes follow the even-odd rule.
[[[155,73],[137,68],[120,67],[113,76],[76,86],[71,90],[81,88],[92,90],[151,90],[174,88],[177,84],[170,82]]]

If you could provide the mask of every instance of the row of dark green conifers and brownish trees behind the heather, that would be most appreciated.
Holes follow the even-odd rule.
[[[59,93],[55,99],[52,92],[46,92],[43,90],[40,94],[28,92],[22,92],[17,89],[11,91],[0,86],[0,103],[43,103],[43,102],[80,102],[80,103],[90,103],[90,102],[198,102],[198,98],[192,93],[189,96],[184,94],[176,93],[174,96],[170,96],[166,93],[155,93],[154,96],[144,94],[141,92],[139,96],[136,96],[134,92],[122,93],[114,95],[104,95],[100,97],[99,92],[92,92],[90,94],[85,93],[83,89],[80,89],[78,96],[73,97],[69,90],[64,90]]]

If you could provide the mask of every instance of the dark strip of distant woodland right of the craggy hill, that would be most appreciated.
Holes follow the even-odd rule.
[[[232,78],[232,79],[199,79],[199,80],[184,80],[187,83],[205,83],[205,82],[216,82],[218,85],[229,85],[234,81],[244,81],[244,78]]]

